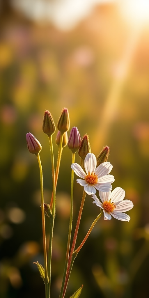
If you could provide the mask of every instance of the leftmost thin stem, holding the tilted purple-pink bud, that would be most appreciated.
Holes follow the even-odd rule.
[[[46,288],[46,298],[47,296],[47,284],[49,283],[48,270],[47,270],[47,257],[46,257],[46,229],[45,229],[45,217],[44,217],[44,191],[43,191],[43,174],[42,166],[39,153],[36,155],[38,159],[39,169],[40,169],[40,185],[41,185],[41,214],[42,214],[42,232],[43,232],[43,246],[44,246],[44,270],[45,270],[45,288]]]

